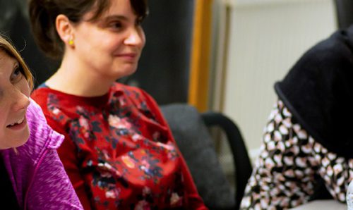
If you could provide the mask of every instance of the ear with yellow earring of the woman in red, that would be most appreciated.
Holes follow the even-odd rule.
[[[73,46],[73,26],[68,20],[68,17],[60,14],[55,20],[56,32],[58,32],[61,40],[69,45]]]

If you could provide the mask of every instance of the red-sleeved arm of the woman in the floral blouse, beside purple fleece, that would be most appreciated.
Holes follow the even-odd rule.
[[[52,118],[47,117],[48,124],[61,134],[64,134],[64,142],[58,149],[58,154],[62,163],[64,164],[65,171],[70,178],[73,188],[76,191],[78,198],[85,210],[91,209],[90,199],[88,199],[88,194],[85,190],[85,180],[80,174],[80,168],[78,168],[78,157],[76,156],[77,150],[76,145],[70,139],[68,134],[64,131],[61,126],[57,124]]]

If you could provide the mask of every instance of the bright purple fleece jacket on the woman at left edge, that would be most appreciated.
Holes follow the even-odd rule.
[[[30,99],[30,138],[13,149],[0,150],[21,209],[83,209],[56,149],[64,136],[47,125],[42,109]]]

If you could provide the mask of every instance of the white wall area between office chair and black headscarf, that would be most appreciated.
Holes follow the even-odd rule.
[[[335,31],[335,7],[330,0],[232,3],[223,111],[237,122],[254,156],[276,99],[275,81]]]

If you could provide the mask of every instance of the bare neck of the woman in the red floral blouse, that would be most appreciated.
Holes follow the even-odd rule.
[[[60,68],[47,80],[52,89],[80,97],[97,97],[109,92],[114,82],[111,78],[102,78],[89,66],[80,65],[73,56],[64,56]]]

